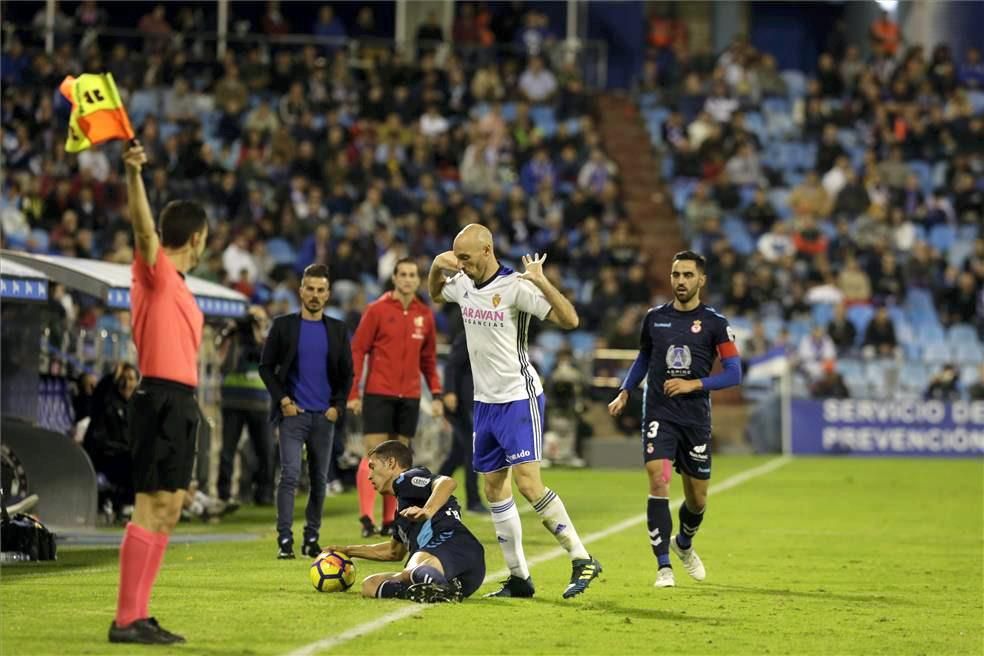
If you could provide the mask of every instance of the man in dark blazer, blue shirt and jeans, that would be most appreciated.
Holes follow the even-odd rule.
[[[291,525],[294,493],[307,445],[311,491],[301,553],[321,552],[318,531],[325,505],[335,422],[352,387],[352,350],[345,324],[324,316],[328,267],[312,264],[301,278],[301,311],[273,320],[263,347],[260,377],[270,392],[271,418],[280,426],[280,486],[277,488],[277,558],[294,557]]]

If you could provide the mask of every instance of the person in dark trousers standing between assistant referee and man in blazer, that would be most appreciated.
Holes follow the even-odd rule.
[[[252,306],[248,315],[229,322],[219,334],[222,360],[222,453],[219,458],[219,498],[233,503],[232,470],[243,426],[256,454],[252,472],[252,498],[257,505],[273,505],[273,435],[268,412],[270,394],[260,379],[260,355],[269,329],[266,310]],[[249,489],[250,472],[244,461],[240,474],[240,497]]]

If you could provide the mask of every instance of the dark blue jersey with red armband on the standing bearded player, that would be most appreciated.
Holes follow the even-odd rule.
[[[725,371],[711,376],[714,359]],[[639,356],[623,389],[632,390],[646,378],[644,416],[685,426],[710,428],[710,390],[741,382],[741,363],[728,320],[704,304],[682,312],[667,303],[646,314],[639,336]],[[704,388],[668,397],[663,383],[671,378],[700,379]]]

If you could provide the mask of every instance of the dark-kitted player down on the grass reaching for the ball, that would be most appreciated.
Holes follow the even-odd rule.
[[[402,572],[366,577],[362,595],[435,603],[460,601],[478,590],[485,580],[485,549],[461,523],[454,479],[413,467],[410,447],[397,440],[383,442],[367,458],[372,486],[396,497],[393,536],[389,542],[328,548],[366,560],[410,557]]]

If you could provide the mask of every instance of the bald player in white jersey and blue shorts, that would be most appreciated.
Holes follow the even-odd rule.
[[[512,478],[533,504],[543,525],[571,556],[572,573],[564,598],[584,592],[601,573],[585,550],[564,502],[540,478],[544,399],[540,376],[530,363],[526,336],[533,316],[565,329],[576,328],[577,312],[543,274],[546,256],[523,257],[525,273],[502,266],[492,233],[470,224],[451,251],[431,265],[428,287],[437,303],[457,303],[465,324],[475,380],[475,471],[485,479],[485,496],[509,578],[490,597],[532,597],[534,588],[523,554],[523,527],[512,498]],[[450,277],[445,275],[450,274]]]

